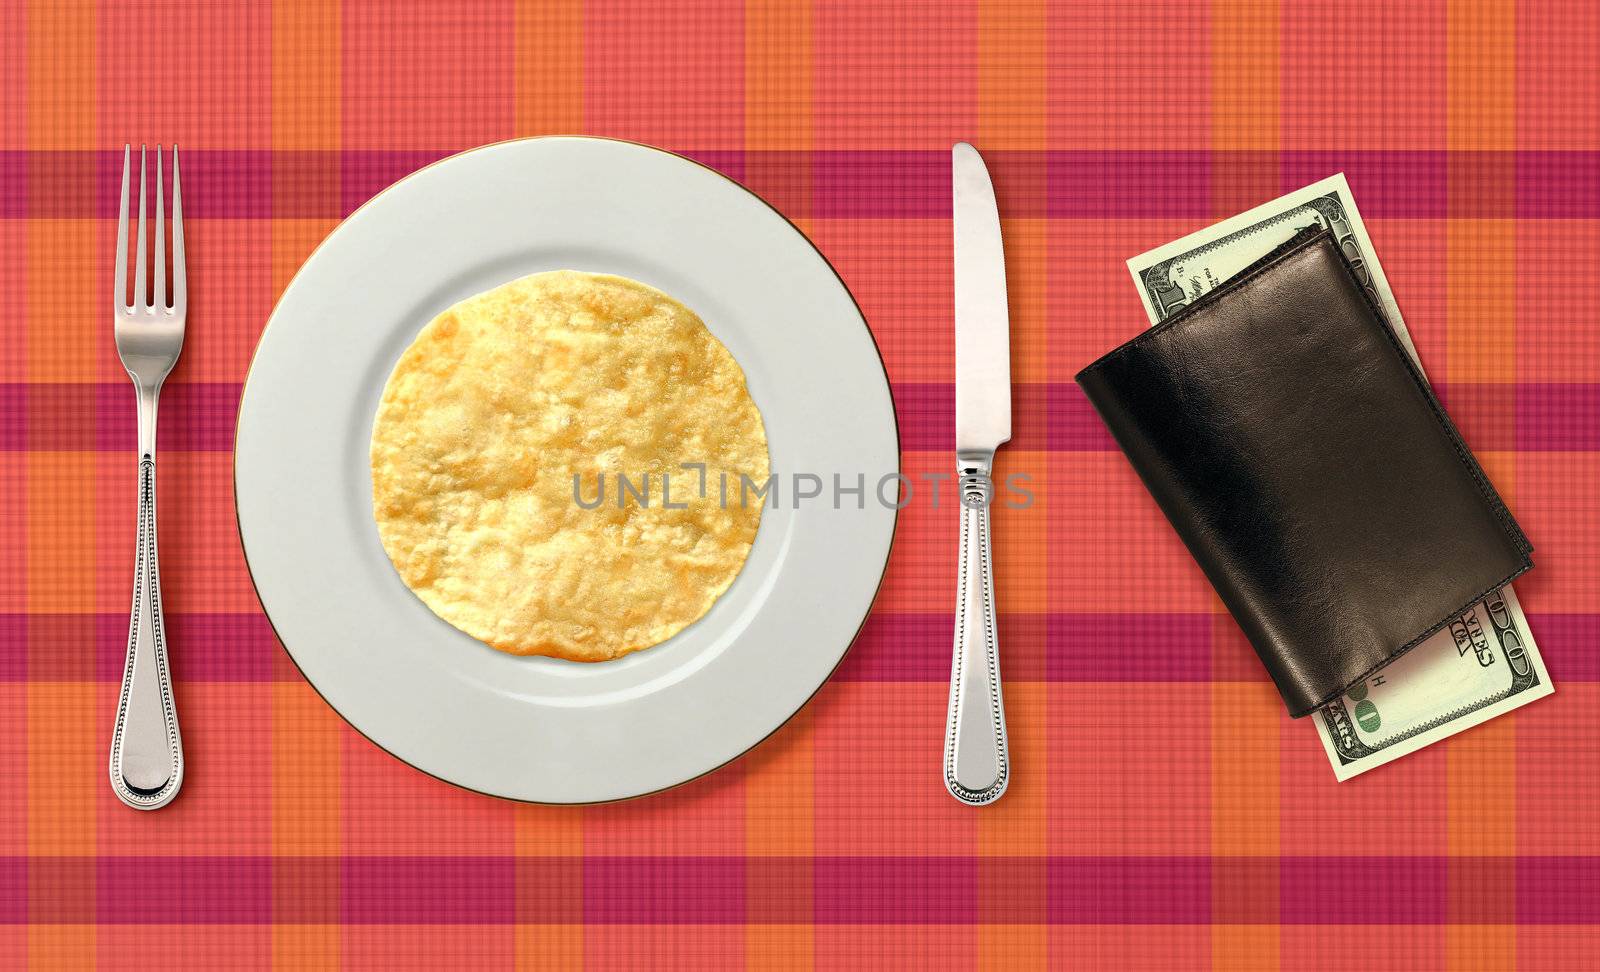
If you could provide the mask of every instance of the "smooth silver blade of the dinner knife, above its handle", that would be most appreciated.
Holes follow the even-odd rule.
[[[1000,209],[978,149],[950,149],[955,229],[955,451],[1011,438],[1011,315]]]

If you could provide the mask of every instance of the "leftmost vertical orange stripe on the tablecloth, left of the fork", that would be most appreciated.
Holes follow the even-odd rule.
[[[27,147],[98,147],[98,10],[93,2],[45,0],[27,8]],[[110,240],[114,233],[106,233]],[[104,307],[96,286],[85,286],[82,261],[43,259],[101,253],[93,222],[30,222],[26,232],[26,307],[50,307],[56,320]],[[109,267],[107,267],[109,270]],[[101,285],[107,286],[107,285]],[[102,320],[102,318],[101,318]],[[106,321],[109,326],[109,321]],[[26,376],[32,380],[94,380],[109,372],[102,355],[107,336],[91,328],[59,326],[27,339]],[[93,459],[77,454],[30,454],[22,478],[27,516],[26,595],[29,611],[83,611],[94,600],[96,579],[85,572],[98,556]],[[130,480],[131,484],[131,480]],[[75,651],[91,652],[93,644]],[[106,782],[102,727],[109,710],[102,692],[85,683],[32,683],[26,691],[26,801],[29,854],[70,854],[93,844],[96,812],[114,799]],[[22,780],[14,780],[21,783]],[[77,905],[80,914],[37,916],[38,921],[88,922],[94,911],[94,876],[82,874],[70,889],[40,889],[30,902]],[[34,916],[30,914],[30,919]],[[96,929],[90,924],[30,927],[29,962],[45,967],[94,964]]]

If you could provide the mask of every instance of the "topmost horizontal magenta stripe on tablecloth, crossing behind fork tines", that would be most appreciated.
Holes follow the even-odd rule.
[[[674,149],[674,145],[664,145]],[[189,219],[347,216],[397,179],[470,145],[414,150],[182,152]],[[682,153],[734,179],[810,166],[811,205],[789,216],[811,219],[947,219],[949,152],[706,150]],[[755,158],[758,163],[752,165]],[[1600,152],[1595,150],[987,150],[984,158],[1008,217],[1194,219],[1213,222],[1211,182],[1219,161],[1246,169],[1277,166],[1275,192],[1342,171],[1370,219],[1600,217]],[[766,165],[771,161],[771,165]],[[1515,193],[1450,198],[1451,179],[1515,181]],[[122,150],[0,152],[0,219],[115,219]],[[83,185],[94,187],[85,193]],[[1267,201],[1270,193],[1262,193]],[[1501,213],[1496,206],[1514,206]],[[1131,254],[1128,254],[1131,256]]]

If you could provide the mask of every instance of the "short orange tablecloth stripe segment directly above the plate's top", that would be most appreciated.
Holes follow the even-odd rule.
[[[518,0],[512,48],[518,136],[584,129],[582,0]]]

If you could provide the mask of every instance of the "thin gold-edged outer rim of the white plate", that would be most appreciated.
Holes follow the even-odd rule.
[[[861,633],[867,627],[867,620],[870,620],[870,617],[872,617],[872,609],[877,606],[878,595],[883,593],[883,582],[888,579],[888,572],[890,572],[890,558],[894,553],[894,540],[899,537],[901,507],[898,507],[898,505],[891,505],[890,507],[890,513],[891,513],[891,516],[890,516],[890,536],[888,536],[888,545],[886,545],[885,553],[883,553],[883,568],[882,568],[882,571],[878,571],[878,579],[877,579],[877,584],[872,588],[872,598],[867,601],[867,609],[861,615],[861,623],[856,625],[854,633],[850,636],[850,641],[845,644],[845,651],[840,652],[838,660],[834,662],[834,667],[829,668],[827,675],[822,676],[822,679],[816,684],[816,687],[811,689],[811,692],[800,702],[798,707],[795,707],[794,711],[790,711],[789,715],[786,715],[776,726],[773,726],[773,729],[770,732],[766,732],[765,735],[762,735],[760,739],[757,739],[755,742],[752,742],[746,748],[739,750],[738,753],[734,753],[733,756],[723,759],[722,763],[718,763],[718,764],[715,764],[715,766],[712,766],[709,769],[704,769],[704,771],[701,771],[701,772],[698,772],[698,774],[694,774],[691,777],[686,777],[686,779],[678,780],[675,783],[669,783],[666,787],[658,787],[656,790],[646,790],[646,791],[632,793],[632,795],[627,795],[627,796],[614,796],[614,798],[610,798],[610,799],[573,799],[573,801],[525,799],[525,798],[520,798],[520,796],[507,796],[504,793],[490,793],[488,790],[478,790],[475,787],[467,787],[466,783],[458,783],[456,780],[450,780],[450,779],[442,777],[442,775],[438,775],[435,772],[422,769],[421,766],[418,766],[418,764],[411,763],[410,759],[400,756],[398,753],[395,753],[394,750],[390,750],[384,743],[381,743],[376,739],[373,739],[371,735],[368,735],[360,726],[357,726],[354,721],[350,721],[349,716],[346,716],[342,711],[339,711],[339,707],[336,707],[328,699],[328,695],[317,686],[317,683],[312,681],[310,676],[306,675],[306,670],[301,668],[301,663],[294,659],[294,652],[290,651],[288,641],[285,641],[283,636],[282,636],[282,633],[278,631],[277,622],[272,620],[272,612],[267,611],[267,603],[261,596],[261,588],[256,585],[256,568],[251,566],[251,563],[250,563],[250,547],[245,542],[245,528],[243,528],[243,520],[242,520],[240,510],[238,510],[238,427],[240,427],[240,419],[243,417],[243,412],[245,412],[245,390],[250,388],[250,377],[251,377],[251,374],[254,374],[256,358],[259,357],[261,345],[266,342],[267,331],[272,328],[272,321],[274,321],[274,318],[278,313],[278,307],[283,304],[283,297],[290,293],[290,289],[293,289],[294,283],[306,272],[306,267],[317,257],[318,253],[322,253],[322,248],[326,246],[328,241],[333,240],[334,235],[338,235],[339,229],[342,229],[346,222],[349,222],[350,219],[354,219],[357,214],[362,213],[362,209],[366,209],[368,206],[371,206],[373,203],[376,203],[379,198],[382,198],[386,193],[389,193],[392,189],[395,189],[402,182],[405,182],[405,181],[408,181],[408,179],[411,179],[411,177],[414,177],[414,176],[418,176],[418,174],[421,174],[421,173],[424,173],[427,169],[432,169],[434,166],[443,165],[443,163],[451,161],[454,158],[461,158],[462,155],[470,155],[474,152],[483,152],[486,149],[496,149],[496,147],[501,147],[501,145],[510,145],[510,144],[517,144],[517,142],[541,142],[541,141],[619,142],[619,144],[624,144],[624,145],[635,145],[638,149],[646,149],[650,152],[659,152],[662,155],[670,155],[674,158],[678,158],[682,161],[694,165],[694,166],[698,166],[701,169],[706,169],[707,173],[712,173],[714,176],[717,176],[723,182],[728,182],[734,189],[738,189],[739,192],[744,192],[746,195],[752,197],[754,200],[757,200],[763,206],[766,206],[768,209],[771,209],[773,214],[776,214],[779,219],[782,219],[784,224],[787,224],[789,229],[800,240],[803,240],[805,245],[810,246],[813,253],[816,253],[818,259],[822,261],[822,265],[827,267],[829,273],[834,275],[834,280],[838,283],[838,288],[845,293],[846,297],[850,297],[850,304],[856,309],[856,315],[861,318],[861,328],[867,333],[867,342],[872,345],[872,350],[874,350],[874,353],[878,358],[878,368],[883,372],[883,387],[890,392],[890,424],[894,428],[894,473],[896,473],[896,476],[904,476],[904,446],[906,446],[906,443],[904,443],[904,440],[901,436],[899,409],[894,406],[894,395],[893,395],[894,384],[890,380],[890,369],[888,369],[888,361],[883,358],[883,347],[878,344],[877,334],[872,333],[872,325],[867,321],[867,313],[866,313],[866,310],[862,310],[861,301],[856,299],[854,291],[851,291],[850,285],[845,283],[845,278],[838,272],[838,267],[835,267],[834,262],[830,259],[827,259],[827,254],[822,253],[822,248],[818,246],[816,241],[811,240],[811,237],[808,237],[805,233],[805,230],[802,230],[795,224],[795,221],[789,219],[789,216],[782,209],[779,209],[778,206],[774,206],[766,197],[763,197],[762,193],[755,192],[754,189],[750,189],[744,182],[734,179],[733,176],[723,173],[722,169],[717,169],[717,168],[714,168],[710,165],[706,165],[704,161],[699,161],[698,158],[691,158],[688,155],[683,155],[682,152],[674,152],[672,149],[662,149],[661,145],[651,145],[648,142],[640,142],[640,141],[624,139],[624,137],[598,136],[598,134],[555,134],[555,133],[552,133],[552,134],[538,134],[538,136],[517,136],[517,137],[509,137],[509,139],[499,139],[499,141],[494,141],[494,142],[483,142],[483,144],[474,145],[470,149],[462,149],[461,152],[451,152],[450,155],[443,155],[440,158],[435,158],[434,161],[429,161],[427,165],[418,166],[418,168],[411,169],[410,173],[406,173],[405,176],[400,176],[394,182],[384,185],[376,193],[373,193],[371,197],[368,197],[366,200],[363,200],[358,206],[355,206],[347,214],[344,214],[342,217],[339,217],[339,222],[331,230],[328,230],[328,233],[323,235],[322,240],[317,241],[317,245],[310,249],[310,253],[307,253],[306,257],[301,261],[299,267],[296,267],[294,275],[290,277],[288,283],[283,285],[283,289],[278,291],[277,299],[274,299],[274,302],[272,302],[272,310],[267,313],[266,323],[262,323],[261,331],[256,334],[256,344],[250,350],[250,364],[245,368],[245,379],[243,379],[243,382],[240,382],[238,408],[234,411],[234,448],[232,448],[232,464],[230,464],[232,465],[232,470],[230,470],[232,475],[229,478],[229,483],[230,483],[230,486],[234,489],[234,532],[238,536],[240,555],[245,560],[245,577],[250,580],[250,592],[251,592],[251,595],[254,595],[256,604],[261,608],[261,615],[267,620],[267,627],[272,630],[272,638],[278,643],[278,649],[290,659],[290,663],[294,665],[294,673],[299,675],[301,681],[304,681],[307,686],[310,686],[310,689],[317,694],[317,697],[323,702],[323,705],[326,705],[328,710],[333,711],[333,715],[339,716],[339,721],[344,723],[344,726],[347,726],[349,729],[354,729],[357,732],[357,735],[360,735],[362,739],[365,739],[366,742],[370,742],[373,747],[376,747],[379,751],[382,751],[389,758],[392,758],[392,759],[398,761],[400,764],[406,766],[408,769],[416,771],[416,772],[419,772],[419,774],[422,774],[426,777],[435,779],[435,780],[438,780],[442,783],[446,783],[450,787],[454,787],[456,790],[462,790],[466,793],[477,793],[480,796],[488,796],[488,798],[506,801],[506,803],[510,803],[510,804],[526,804],[526,806],[549,806],[549,807],[605,806],[605,804],[629,803],[629,801],[635,801],[635,799],[646,799],[650,796],[656,796],[656,795],[661,795],[661,793],[669,793],[672,790],[678,790],[680,787],[688,787],[690,783],[702,780],[702,779],[706,779],[706,777],[709,777],[709,775],[712,775],[712,774],[715,774],[715,772],[718,772],[722,769],[726,769],[728,766],[738,763],[739,759],[744,759],[746,756],[749,756],[750,753],[754,753],[757,748],[760,748],[763,743],[766,743],[770,739],[773,739],[774,735],[778,735],[784,727],[787,727],[795,719],[795,716],[798,716],[808,705],[811,705],[813,700],[816,700],[816,697],[822,691],[822,687],[827,686],[834,679],[835,675],[838,675],[838,668],[845,663],[845,659],[850,657],[850,652],[854,651],[856,643],[861,639]]]

